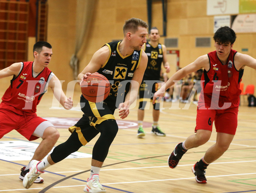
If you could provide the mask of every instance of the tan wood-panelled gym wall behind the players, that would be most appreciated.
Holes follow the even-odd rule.
[[[214,16],[206,15],[207,0],[168,0],[167,9],[167,37],[178,38],[180,51],[180,66],[184,67],[197,57],[215,50],[213,36]],[[72,80],[72,70],[69,60],[74,52],[76,38],[76,0],[51,0],[49,4],[48,41],[54,44],[53,68],[60,78]],[[122,40],[122,26],[125,20],[136,17],[147,21],[146,0],[96,0],[95,10],[91,16],[89,35],[83,51],[79,53],[80,71],[89,63],[92,55],[103,44],[112,40]],[[153,1],[152,26],[158,27],[163,34],[162,4]],[[211,47],[195,48],[196,37],[210,37]],[[238,33],[234,49],[238,52],[256,57],[256,33]],[[248,48],[242,52],[242,48]],[[60,57],[60,59],[59,59]],[[61,62],[59,62],[61,61]],[[254,83],[255,70],[246,69],[243,82],[245,85]]]

